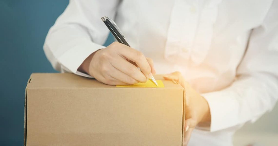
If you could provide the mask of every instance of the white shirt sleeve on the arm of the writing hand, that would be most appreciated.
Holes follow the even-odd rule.
[[[114,18],[117,7],[118,0],[70,0],[44,42],[44,52],[53,68],[90,77],[77,69],[91,53],[105,48],[101,44],[109,30],[100,18]]]

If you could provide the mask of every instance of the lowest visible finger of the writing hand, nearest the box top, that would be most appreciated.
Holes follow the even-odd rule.
[[[111,68],[111,73],[109,74],[111,77],[115,78],[118,81],[124,82],[125,84],[136,84],[138,83],[137,80],[133,79],[129,75],[121,72],[120,70],[116,69],[114,66]],[[120,85],[120,84],[117,84]]]

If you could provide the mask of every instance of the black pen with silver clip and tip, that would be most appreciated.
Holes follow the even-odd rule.
[[[101,17],[101,20],[108,27],[108,29],[113,34],[113,36],[117,39],[118,42],[125,44],[126,46],[129,46],[129,44],[125,40],[125,36],[121,33],[119,27],[116,25],[116,23],[112,19],[110,19],[109,17],[103,16],[103,17]],[[138,68],[138,69],[141,71],[140,68]],[[158,84],[153,76],[152,76],[152,78],[150,78],[150,80],[153,82],[153,84],[158,86]]]

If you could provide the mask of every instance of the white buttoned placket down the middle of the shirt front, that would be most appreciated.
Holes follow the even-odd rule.
[[[165,58],[168,60],[190,57],[198,21],[197,4],[193,2],[188,4],[176,0],[174,3],[165,45]]]

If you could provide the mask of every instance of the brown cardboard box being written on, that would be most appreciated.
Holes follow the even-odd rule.
[[[74,74],[32,74],[24,145],[182,146],[184,90],[163,84],[116,87]]]

